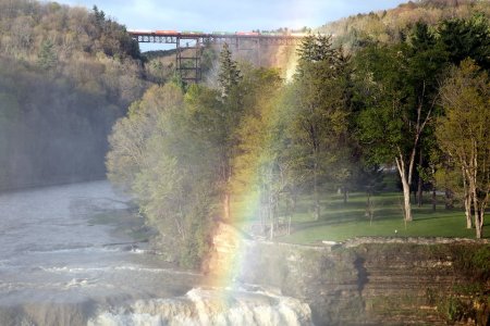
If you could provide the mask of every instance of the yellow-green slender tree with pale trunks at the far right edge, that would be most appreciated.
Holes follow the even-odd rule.
[[[445,115],[438,120],[437,139],[462,171],[474,212],[476,237],[482,238],[490,200],[490,82],[471,60],[453,68],[441,90]]]

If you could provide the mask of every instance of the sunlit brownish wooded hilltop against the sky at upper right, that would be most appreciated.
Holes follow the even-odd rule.
[[[440,20],[467,18],[477,12],[490,18],[490,1],[487,0],[420,0],[408,1],[395,9],[357,14],[328,23],[317,30],[334,36],[335,45],[347,50],[365,42],[396,42],[407,27],[418,21],[436,25]]]

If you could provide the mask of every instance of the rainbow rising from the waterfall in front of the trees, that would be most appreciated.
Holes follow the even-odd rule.
[[[293,58],[295,60],[295,58]],[[295,67],[295,62],[290,68]],[[220,222],[212,237],[212,253],[207,261],[205,269],[208,272],[207,285],[221,288],[240,287],[240,275],[248,266],[250,259],[247,255],[248,246],[247,236],[241,229],[247,229],[255,224],[257,226],[258,212],[260,210],[260,179],[271,170],[268,162],[273,161],[270,153],[273,152],[274,137],[269,135],[269,130],[274,130],[282,115],[281,105],[274,100],[273,96],[268,95],[268,102],[262,103],[260,110],[260,123],[257,123],[257,116],[249,117],[255,123],[245,125],[247,127],[245,137],[257,137],[257,141],[252,141],[245,153],[236,160],[235,175],[231,181],[232,193],[235,199],[234,210],[232,210],[231,221]],[[272,100],[271,100],[272,99]],[[254,138],[255,139],[255,138]]]

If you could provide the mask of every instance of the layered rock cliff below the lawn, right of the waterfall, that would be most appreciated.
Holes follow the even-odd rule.
[[[236,241],[216,243],[236,252]],[[243,240],[236,279],[310,305],[315,325],[488,325],[490,244],[448,239],[362,239],[306,247]],[[217,256],[216,256],[217,258]],[[486,269],[487,268],[487,269]]]

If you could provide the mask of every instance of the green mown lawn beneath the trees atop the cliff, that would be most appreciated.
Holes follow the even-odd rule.
[[[426,197],[429,200],[427,195]],[[302,198],[292,217],[292,234],[278,237],[277,240],[315,243],[321,240],[343,241],[358,236],[475,238],[475,230],[466,229],[463,210],[446,210],[442,200],[439,200],[436,211],[432,211],[430,202],[426,202],[421,208],[414,204],[414,221],[409,223],[404,223],[403,220],[401,192],[371,197],[372,223],[366,216],[366,193],[352,193],[344,204],[341,196],[323,196],[320,203],[321,218],[314,221],[311,199]],[[245,204],[237,203],[235,208],[245,212],[246,210],[238,209]],[[486,227],[488,230],[490,223],[487,222]],[[487,231],[487,238],[489,233],[490,230]]]

